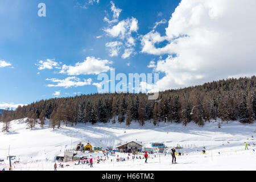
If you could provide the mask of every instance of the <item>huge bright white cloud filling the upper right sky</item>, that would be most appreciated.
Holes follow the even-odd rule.
[[[155,71],[166,74],[159,89],[255,75],[255,6],[252,0],[182,0],[166,35],[151,31],[142,37],[143,53],[168,55],[156,64]]]

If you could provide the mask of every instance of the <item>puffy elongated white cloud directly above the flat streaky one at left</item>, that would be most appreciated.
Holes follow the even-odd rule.
[[[112,61],[96,59],[95,57],[86,57],[86,60],[82,63],[76,63],[75,66],[63,65],[60,73],[67,75],[98,75],[102,72],[108,72],[111,68],[109,65]]]

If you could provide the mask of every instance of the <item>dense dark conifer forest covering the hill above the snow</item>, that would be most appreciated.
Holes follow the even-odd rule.
[[[35,122],[50,119],[49,127],[97,122],[158,122],[187,123],[200,126],[210,119],[222,121],[240,120],[252,123],[256,111],[256,80],[230,78],[208,82],[184,89],[172,89],[159,93],[158,101],[148,100],[144,93],[90,94],[67,98],[52,98],[18,107],[15,111],[3,111],[1,121],[7,126],[13,119],[28,118],[31,129]]]

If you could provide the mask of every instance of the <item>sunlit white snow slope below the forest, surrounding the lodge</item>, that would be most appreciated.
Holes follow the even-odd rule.
[[[14,170],[53,170],[55,156],[67,148],[74,148],[80,141],[89,142],[92,146],[103,148],[130,140],[142,142],[149,146],[152,142],[162,142],[166,146],[183,146],[183,156],[176,156],[177,164],[171,164],[171,156],[167,154],[151,154],[148,163],[144,159],[132,160],[127,154],[116,153],[93,168],[78,162],[62,163],[64,168],[58,170],[256,170],[256,123],[242,125],[240,122],[223,123],[218,128],[217,122],[207,122],[204,127],[195,123],[187,126],[163,122],[160,126],[146,123],[139,126],[133,123],[130,127],[125,123],[96,125],[78,124],[75,127],[61,126],[60,129],[49,129],[48,123],[41,129],[26,129],[26,123],[11,122],[10,133],[0,133],[0,169],[9,166],[6,156],[15,155],[19,163],[13,164]],[[0,124],[2,127],[2,124]],[[250,144],[245,151],[244,142]],[[206,154],[202,154],[203,147]],[[117,162],[117,155],[126,159]],[[140,155],[138,155],[139,157]],[[143,155],[141,155],[143,158]],[[160,158],[160,159],[159,159]],[[111,162],[112,159],[112,162]],[[15,161],[13,160],[13,162]],[[67,164],[69,166],[67,166]]]

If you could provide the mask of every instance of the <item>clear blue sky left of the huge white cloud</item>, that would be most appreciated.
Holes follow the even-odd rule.
[[[46,17],[38,16],[38,4],[46,4]],[[82,8],[77,5],[87,5]],[[134,17],[139,29],[136,36],[146,34],[155,22],[169,19],[179,1],[113,1],[122,9],[119,20]],[[155,56],[139,53],[140,45],[135,46],[136,55],[122,59],[121,55],[111,57],[105,44],[114,41],[102,30],[108,27],[105,17],[112,18],[110,1],[0,1],[0,60],[11,63],[12,67],[0,68],[0,102],[15,104],[54,97],[60,90],[60,96],[74,96],[73,93],[94,93],[94,85],[72,88],[49,88],[46,78],[64,79],[67,75],[57,73],[58,69],[39,70],[38,61],[55,60],[66,65],[74,65],[88,56],[113,61],[112,67],[119,73],[151,73],[145,67]],[[159,26],[164,30],[164,26]],[[96,38],[102,36],[101,38]],[[130,66],[127,66],[130,63]],[[37,74],[40,72],[40,74]],[[97,75],[78,76],[92,78]]]

